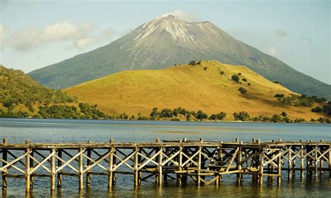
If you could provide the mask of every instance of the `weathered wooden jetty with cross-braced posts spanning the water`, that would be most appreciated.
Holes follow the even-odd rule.
[[[331,176],[331,142],[300,141],[205,142],[180,139],[156,142],[117,143],[84,142],[66,144],[0,144],[2,190],[8,178],[24,178],[25,190],[34,187],[34,179],[50,178],[50,190],[61,188],[64,176],[79,178],[78,188],[88,188],[94,176],[108,177],[108,188],[119,174],[131,174],[135,186],[155,176],[159,185],[168,178],[183,183],[191,178],[196,185],[221,183],[226,174],[235,174],[237,183],[251,175],[258,185],[263,177],[277,177],[282,171],[290,178]],[[306,173],[306,174],[304,174]],[[150,180],[150,179],[149,179]]]

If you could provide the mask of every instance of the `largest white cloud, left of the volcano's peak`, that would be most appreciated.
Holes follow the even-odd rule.
[[[86,47],[91,43],[89,34],[93,26],[91,24],[83,24],[75,26],[70,22],[59,22],[45,26],[44,29],[36,29],[34,26],[16,31],[6,38],[5,45],[13,47],[17,51],[29,51],[49,43],[71,40],[78,50]],[[84,47],[83,47],[84,46]]]

